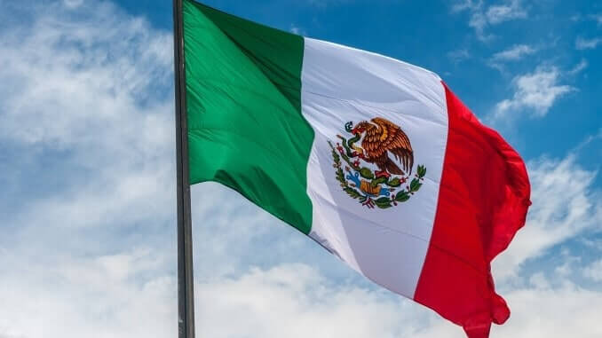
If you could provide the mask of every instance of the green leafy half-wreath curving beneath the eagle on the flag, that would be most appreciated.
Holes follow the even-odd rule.
[[[410,181],[408,185],[404,189],[401,189],[399,193],[394,193],[390,197],[380,197],[378,199],[373,199],[367,194],[361,193],[357,189],[355,189],[352,185],[349,185],[347,180],[345,179],[345,171],[342,168],[341,159],[343,159],[348,166],[345,166],[345,170],[347,172],[351,172],[352,170],[359,173],[359,175],[363,178],[370,180],[370,185],[376,187],[377,185],[387,185],[391,188],[390,191],[394,192],[396,188],[400,187],[400,185],[407,182],[408,177],[394,177],[390,179],[389,177],[378,177],[376,178],[374,172],[368,167],[361,167],[357,162],[353,163],[349,156],[347,156],[344,152],[337,152],[337,148],[329,141],[330,148],[332,149],[332,158],[335,161],[333,167],[336,169],[336,178],[337,181],[343,187],[345,193],[347,193],[352,199],[358,200],[361,205],[366,206],[368,208],[392,208],[392,206],[396,206],[397,203],[402,203],[408,201],[414,193],[420,190],[420,187],[423,185],[424,176],[426,175],[426,168],[424,165],[419,165],[416,169],[415,177]]]

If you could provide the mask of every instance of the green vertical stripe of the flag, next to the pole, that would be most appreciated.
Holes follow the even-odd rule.
[[[227,185],[309,233],[303,38],[185,0],[184,43],[191,183]]]

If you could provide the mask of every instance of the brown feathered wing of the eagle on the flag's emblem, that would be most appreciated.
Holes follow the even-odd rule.
[[[376,123],[383,132],[378,138],[379,146],[373,146],[375,149],[370,156],[379,157],[389,151],[401,162],[403,169],[411,174],[414,166],[414,151],[409,143],[408,135],[395,123],[382,117],[376,117],[372,119],[372,122]]]

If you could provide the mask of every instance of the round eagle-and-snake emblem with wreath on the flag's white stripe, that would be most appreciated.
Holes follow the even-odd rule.
[[[418,165],[412,177],[414,151],[399,126],[376,117],[355,126],[347,122],[345,131],[351,134],[348,138],[337,135],[340,142],[329,145],[337,181],[350,197],[368,208],[391,208],[423,185],[426,168]]]

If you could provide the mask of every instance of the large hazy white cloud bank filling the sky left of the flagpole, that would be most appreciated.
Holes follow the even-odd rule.
[[[0,213],[0,336],[171,336],[170,33],[107,2],[27,11],[0,31],[0,142],[28,192],[0,196],[20,201]]]

